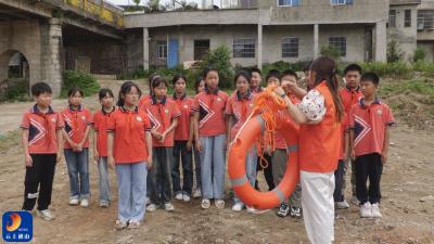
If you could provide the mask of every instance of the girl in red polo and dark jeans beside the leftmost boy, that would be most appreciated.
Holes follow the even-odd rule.
[[[68,106],[62,111],[65,121],[63,138],[64,152],[69,175],[69,205],[89,206],[89,132],[92,127],[92,115],[81,104],[84,93],[73,87],[68,91]]]

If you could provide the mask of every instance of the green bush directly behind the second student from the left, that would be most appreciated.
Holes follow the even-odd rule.
[[[92,95],[100,90],[100,85],[91,75],[80,70],[64,70],[61,97],[66,98],[72,87],[79,87],[85,97]]]

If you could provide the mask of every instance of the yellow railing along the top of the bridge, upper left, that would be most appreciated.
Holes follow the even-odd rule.
[[[103,0],[63,0],[65,4],[80,9],[88,14],[100,17],[103,21],[124,27],[123,9]]]

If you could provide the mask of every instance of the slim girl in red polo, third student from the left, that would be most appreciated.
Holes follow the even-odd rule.
[[[103,88],[98,93],[101,110],[93,115],[93,158],[98,163],[100,207],[108,207],[111,202],[107,170],[107,124],[116,111],[112,90]]]

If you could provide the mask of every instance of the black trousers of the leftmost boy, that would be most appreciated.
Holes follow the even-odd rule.
[[[56,154],[30,154],[30,156],[34,164],[31,167],[26,167],[23,210],[33,210],[36,200],[38,200],[38,210],[46,210],[51,204]]]

